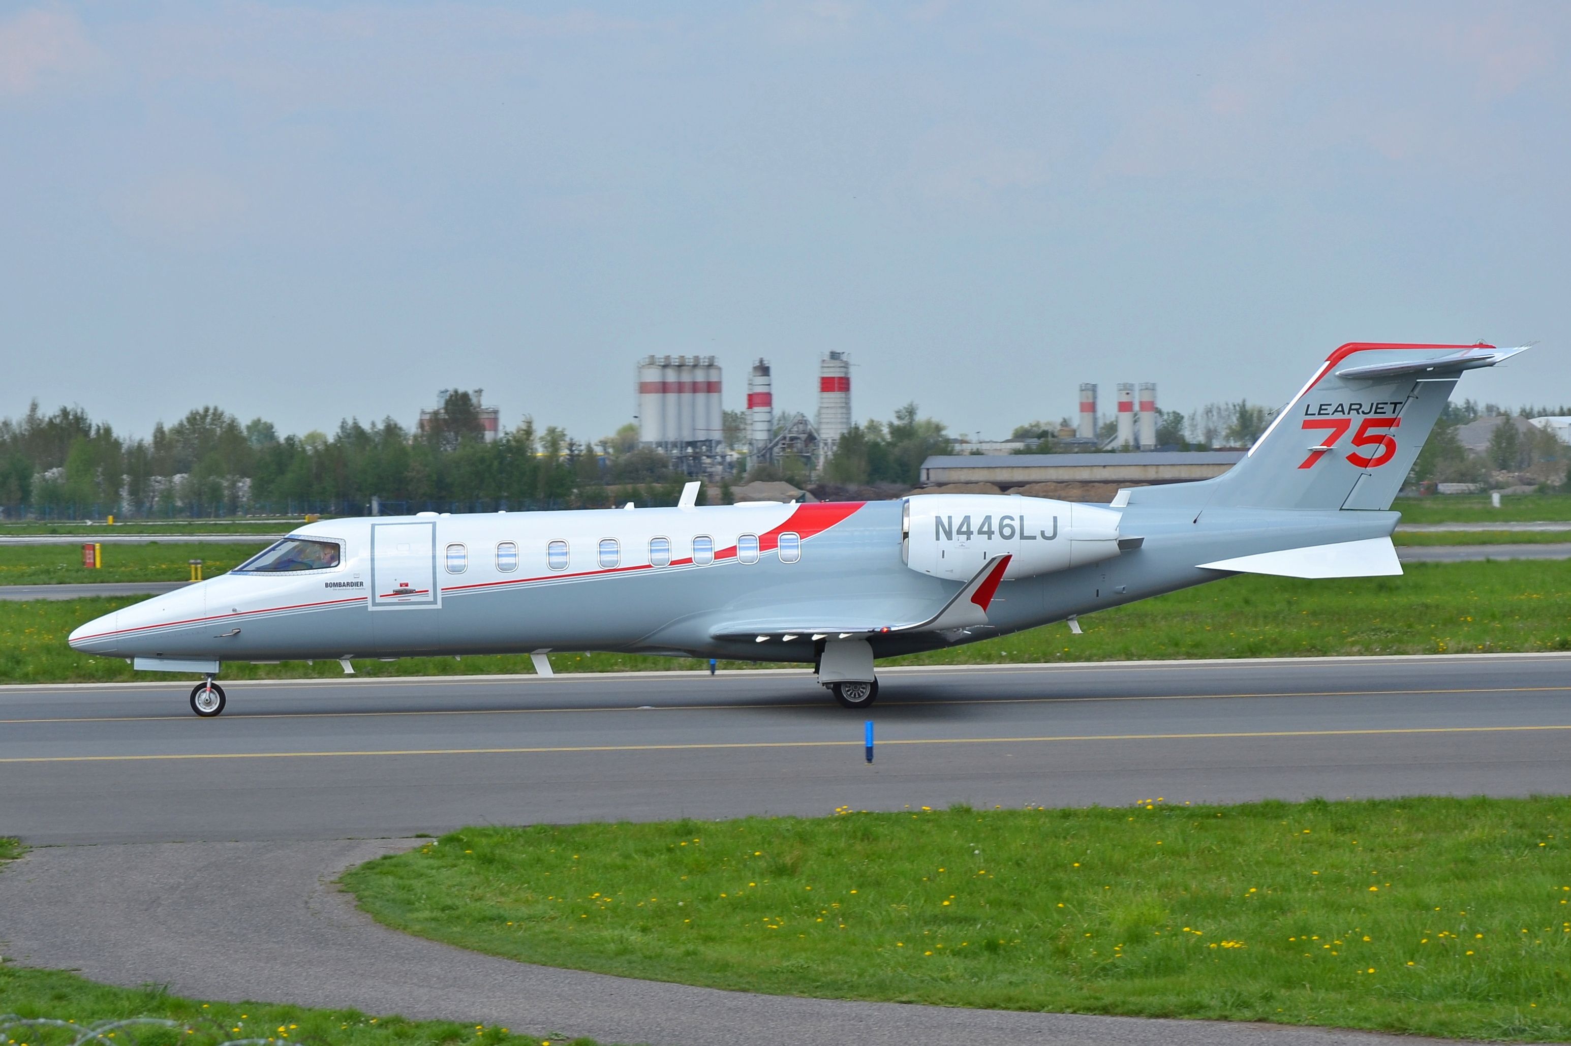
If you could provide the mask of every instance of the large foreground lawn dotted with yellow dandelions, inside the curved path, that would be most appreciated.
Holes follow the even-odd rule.
[[[350,870],[380,922],[742,991],[1571,1037],[1571,801],[467,828]]]

